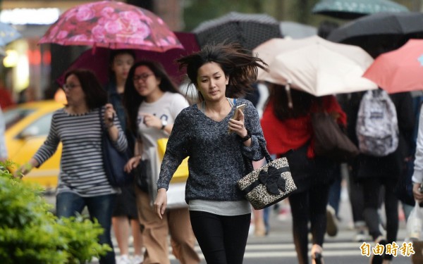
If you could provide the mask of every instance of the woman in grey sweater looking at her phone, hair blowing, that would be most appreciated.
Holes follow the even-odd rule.
[[[154,207],[161,218],[171,177],[189,156],[185,201],[204,258],[207,263],[243,263],[251,207],[236,182],[248,172],[245,162],[263,158],[259,142],[266,142],[255,107],[235,98],[255,82],[257,67],[265,64],[237,44],[206,46],[178,63],[187,68],[200,102],[176,117]],[[231,118],[243,103],[244,111]]]

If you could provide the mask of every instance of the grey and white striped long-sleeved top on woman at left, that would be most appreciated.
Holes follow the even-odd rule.
[[[104,108],[102,108],[102,120]],[[115,115],[114,124],[119,134],[116,149],[124,151],[127,142]],[[99,196],[119,191],[109,184],[102,159],[102,127],[99,108],[82,115],[66,113],[65,108],[54,112],[49,135],[35,153],[35,160],[41,165],[63,144],[61,170],[57,193],[71,191],[80,196]]]

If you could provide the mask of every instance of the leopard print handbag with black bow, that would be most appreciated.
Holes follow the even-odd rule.
[[[267,164],[252,170],[238,181],[238,187],[256,210],[263,209],[286,199],[297,189],[290,174],[286,157],[273,160],[260,142]],[[247,163],[251,164],[251,161]],[[252,165],[251,167],[252,168]]]

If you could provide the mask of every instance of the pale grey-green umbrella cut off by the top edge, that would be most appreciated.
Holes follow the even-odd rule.
[[[389,0],[321,0],[312,13],[333,18],[355,19],[381,12],[408,12],[408,8]]]

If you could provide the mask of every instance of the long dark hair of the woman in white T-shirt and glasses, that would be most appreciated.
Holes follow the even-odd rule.
[[[134,134],[137,134],[137,115],[140,104],[145,100],[145,96],[138,94],[135,89],[133,77],[135,69],[140,66],[146,66],[160,79],[159,89],[163,92],[179,93],[178,87],[164,70],[163,65],[156,61],[138,61],[129,70],[128,79],[125,82],[125,92],[123,92],[123,105],[128,116],[128,127]]]

